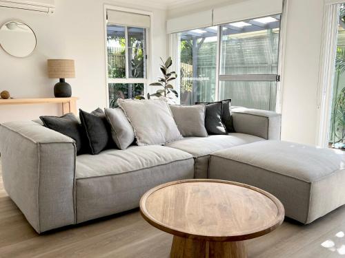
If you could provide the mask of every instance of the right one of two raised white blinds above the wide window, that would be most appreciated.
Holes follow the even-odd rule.
[[[283,0],[248,0],[213,9],[213,25],[282,13]]]

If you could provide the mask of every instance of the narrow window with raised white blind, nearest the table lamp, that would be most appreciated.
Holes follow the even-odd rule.
[[[128,12],[109,11],[106,45],[109,106],[118,98],[144,95],[147,67],[147,19]],[[128,25],[124,25],[124,23]],[[132,24],[132,21],[136,21]],[[142,26],[140,24],[142,23]]]

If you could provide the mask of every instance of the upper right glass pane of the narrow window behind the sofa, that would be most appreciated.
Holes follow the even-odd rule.
[[[146,29],[128,27],[128,77],[146,77]]]

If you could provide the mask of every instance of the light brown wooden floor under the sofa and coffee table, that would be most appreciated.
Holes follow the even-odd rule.
[[[248,257],[345,257],[344,233],[345,207],[307,226],[288,220],[246,241]],[[159,258],[168,257],[171,243],[137,210],[38,235],[3,189],[0,171],[0,257]]]

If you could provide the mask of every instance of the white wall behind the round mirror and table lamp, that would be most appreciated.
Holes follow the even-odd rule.
[[[79,108],[92,111],[106,106],[106,67],[104,47],[104,3],[148,10],[153,13],[152,69],[150,81],[159,74],[159,57],[166,58],[166,10],[141,7],[120,1],[55,0],[55,14],[0,8],[0,25],[6,21],[27,23],[37,36],[31,56],[14,58],[0,48],[0,91],[14,98],[53,97],[57,80],[48,79],[48,58],[75,59],[76,78],[66,79]],[[0,106],[0,122],[33,119],[40,115],[61,115],[58,105]]]

